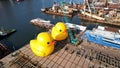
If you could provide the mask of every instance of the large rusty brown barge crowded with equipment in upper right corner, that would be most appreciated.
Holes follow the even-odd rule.
[[[120,26],[120,6],[118,4],[109,7],[112,4],[108,0],[102,2],[85,0],[78,16],[86,21]]]

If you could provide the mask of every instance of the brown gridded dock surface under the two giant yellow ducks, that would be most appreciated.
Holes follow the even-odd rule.
[[[105,55],[102,58],[104,53],[98,52],[100,51],[99,46],[93,43],[82,42],[77,46],[79,49],[76,49],[74,53],[69,53],[66,50],[66,45],[67,43],[64,41],[57,42],[53,54],[47,57],[38,57],[32,52],[30,45],[27,44],[15,51],[17,52],[16,55],[9,54],[1,59],[0,68],[120,68],[120,59],[112,57],[111,60],[109,55],[107,55],[109,58]],[[90,46],[93,45],[98,48],[98,51],[93,47],[91,49]],[[104,48],[101,50],[104,50]],[[120,51],[117,54],[120,58]]]

